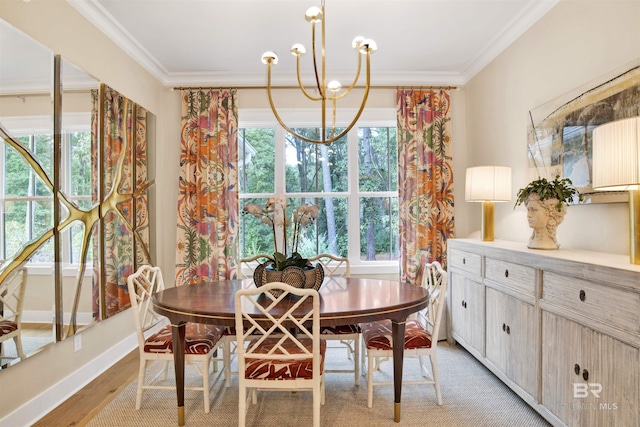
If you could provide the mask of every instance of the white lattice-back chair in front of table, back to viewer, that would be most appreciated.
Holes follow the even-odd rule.
[[[235,320],[240,372],[238,425],[246,423],[248,393],[255,404],[258,389],[310,390],[313,425],[319,427],[327,346],[320,338],[318,291],[282,282],[241,289],[235,294]]]

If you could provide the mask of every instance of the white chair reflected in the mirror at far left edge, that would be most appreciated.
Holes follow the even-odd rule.
[[[22,306],[27,288],[27,268],[13,271],[0,284],[0,359],[13,359],[4,354],[4,342],[13,339],[17,358],[24,358],[22,348]]]

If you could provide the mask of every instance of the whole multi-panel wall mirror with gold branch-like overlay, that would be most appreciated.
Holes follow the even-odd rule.
[[[0,20],[0,136],[0,316],[25,280],[4,369],[130,306],[153,263],[155,117]]]

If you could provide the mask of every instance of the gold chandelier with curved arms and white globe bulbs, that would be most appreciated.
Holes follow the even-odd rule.
[[[356,124],[360,115],[362,114],[362,110],[364,110],[364,106],[367,103],[367,97],[369,96],[369,87],[370,87],[370,57],[371,53],[375,52],[377,49],[376,43],[373,40],[365,39],[364,37],[356,37],[353,39],[351,46],[356,49],[356,53],[358,55],[358,70],[356,71],[356,77],[353,80],[353,83],[342,93],[339,93],[342,89],[342,85],[332,80],[327,84],[327,75],[326,75],[326,58],[325,58],[325,13],[324,13],[324,0],[322,0],[321,8],[311,7],[307,10],[305,14],[305,18],[308,22],[311,23],[311,46],[313,50],[313,70],[316,80],[316,88],[318,91],[318,96],[313,96],[309,93],[309,91],[302,84],[302,78],[300,77],[300,56],[306,53],[306,49],[303,45],[296,43],[291,47],[291,54],[296,57],[297,64],[297,75],[298,75],[298,86],[302,93],[312,101],[320,101],[322,104],[322,129],[321,129],[321,139],[315,140],[307,138],[303,135],[300,135],[294,132],[291,128],[289,128],[276,111],[276,107],[273,104],[273,98],[271,96],[271,65],[278,63],[278,55],[273,52],[265,52],[262,55],[262,63],[267,64],[267,93],[269,95],[269,105],[271,106],[271,110],[273,114],[276,116],[276,119],[285,128],[289,133],[300,138],[303,141],[311,142],[314,144],[324,144],[328,145],[338,139],[342,138],[351,130],[351,128]],[[322,48],[321,48],[321,74],[318,74],[318,61],[316,54],[316,23],[322,23]],[[362,98],[362,104],[358,110],[358,113],[354,117],[353,121],[347,126],[344,131],[336,135],[336,104],[338,99],[345,97],[351,90],[355,87],[358,79],[360,77],[360,68],[362,63],[362,55],[366,56],[367,61],[367,73],[366,73],[366,82],[364,89],[364,96]],[[332,121],[331,127],[327,128],[327,101],[332,104]]]

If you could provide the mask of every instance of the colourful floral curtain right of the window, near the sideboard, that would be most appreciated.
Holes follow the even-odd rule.
[[[401,281],[420,283],[422,262],[446,268],[453,237],[449,93],[398,90],[398,193]]]

